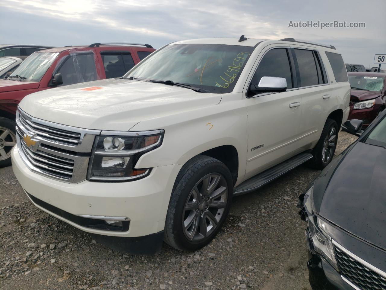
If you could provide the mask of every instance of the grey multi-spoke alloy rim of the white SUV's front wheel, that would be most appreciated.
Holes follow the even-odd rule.
[[[186,238],[198,242],[217,228],[227,205],[227,196],[227,181],[221,174],[207,174],[196,183],[182,215]]]

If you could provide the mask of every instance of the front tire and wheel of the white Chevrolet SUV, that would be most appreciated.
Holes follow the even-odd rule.
[[[225,222],[232,195],[232,175],[225,164],[205,155],[193,157],[176,178],[164,241],[181,251],[196,251],[207,245]]]

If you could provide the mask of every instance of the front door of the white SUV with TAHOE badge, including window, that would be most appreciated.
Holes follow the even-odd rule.
[[[245,178],[298,153],[297,138],[301,119],[301,98],[294,89],[294,68],[289,48],[267,48],[252,84],[261,77],[283,77],[287,91],[247,96],[248,153]],[[296,85],[295,85],[296,86]]]

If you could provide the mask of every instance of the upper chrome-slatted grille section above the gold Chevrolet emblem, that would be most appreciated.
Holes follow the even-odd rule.
[[[36,123],[26,114],[20,114],[19,121],[29,132],[34,132],[42,139],[46,139],[51,142],[63,143],[71,147],[76,147],[78,143],[81,142],[81,133],[71,132]]]

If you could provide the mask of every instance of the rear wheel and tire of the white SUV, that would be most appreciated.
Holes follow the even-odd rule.
[[[312,150],[313,158],[309,162],[310,167],[322,170],[331,162],[337,147],[338,133],[337,122],[333,119],[327,119],[322,135]],[[334,138],[328,142],[327,139],[331,139],[333,136]]]

